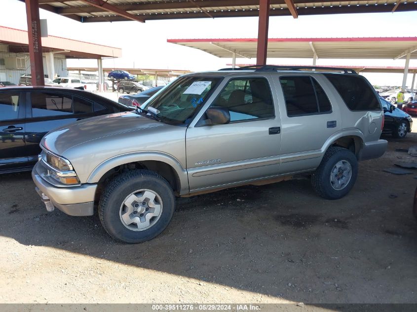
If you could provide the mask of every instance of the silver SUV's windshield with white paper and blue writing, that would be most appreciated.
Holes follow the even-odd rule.
[[[157,116],[162,122],[188,125],[221,79],[221,77],[178,78],[141,108],[157,109]]]

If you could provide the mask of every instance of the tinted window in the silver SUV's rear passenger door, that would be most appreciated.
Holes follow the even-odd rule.
[[[323,88],[310,76],[279,78],[288,117],[330,113],[332,106]]]

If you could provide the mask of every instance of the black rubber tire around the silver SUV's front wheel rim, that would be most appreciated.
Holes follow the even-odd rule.
[[[151,190],[160,197],[162,211],[150,228],[134,231],[122,223],[120,209],[129,194],[141,189]],[[174,210],[175,198],[170,184],[159,174],[148,170],[132,170],[116,176],[104,190],[98,209],[106,232],[125,243],[142,243],[158,236],[168,226]]]

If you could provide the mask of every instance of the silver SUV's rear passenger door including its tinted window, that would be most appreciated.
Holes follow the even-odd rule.
[[[275,77],[282,121],[279,173],[314,169],[326,140],[341,129],[340,111],[324,92],[329,83],[320,74]]]

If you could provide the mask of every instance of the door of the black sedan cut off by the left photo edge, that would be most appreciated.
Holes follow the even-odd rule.
[[[0,170],[25,167],[25,101],[20,92],[0,93]]]

